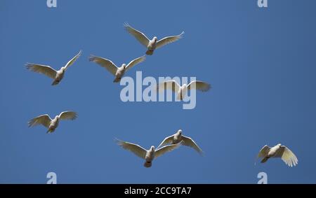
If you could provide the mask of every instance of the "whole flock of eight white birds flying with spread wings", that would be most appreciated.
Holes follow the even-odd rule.
[[[154,50],[161,48],[164,45],[167,45],[169,43],[173,43],[175,41],[178,41],[180,38],[183,38],[184,31],[176,36],[167,36],[165,38],[162,38],[158,41],[157,37],[154,36],[151,40],[147,38],[145,34],[143,34],[141,31],[138,31],[131,27],[129,24],[124,24],[124,27],[129,32],[129,34],[133,35],[142,45],[145,46],[147,51],[145,52],[146,55],[153,55]],[[65,76],[65,71],[76,62],[76,60],[81,56],[82,52],[79,51],[79,53],[74,56],[72,59],[70,59],[69,62],[65,66],[62,66],[58,71],[51,68],[51,66],[43,65],[43,64],[26,64],[27,69],[30,71],[34,71],[37,73],[42,73],[49,78],[53,79],[52,85],[58,85],[62,78]],[[104,67],[112,73],[114,76],[114,83],[118,83],[121,78],[124,76],[127,70],[131,69],[133,66],[136,66],[136,64],[140,64],[141,62],[144,62],[146,59],[146,56],[143,55],[142,57],[138,57],[136,59],[133,59],[129,64],[121,64],[120,67],[115,65],[110,59],[105,59],[103,57],[97,57],[91,55],[89,57],[89,61],[95,62],[96,64],[99,64],[100,66]],[[205,83],[202,81],[194,80],[190,82],[188,85],[182,85],[180,86],[175,80],[167,80],[164,83],[160,83],[156,86],[156,90],[158,92],[164,91],[164,90],[172,90],[173,92],[177,93],[177,99],[183,100],[183,96],[185,96],[185,93],[188,90],[196,89],[200,90],[202,92],[206,92],[211,89],[211,85],[209,83]],[[55,131],[55,129],[59,125],[60,120],[74,120],[77,118],[77,113],[74,111],[64,111],[60,113],[60,115],[56,115],[55,118],[51,119],[49,115],[39,115],[36,118],[33,118],[29,121],[29,127],[34,127],[37,125],[44,125],[46,127],[47,133],[52,133]],[[122,148],[131,151],[138,157],[141,157],[143,160],[145,160],[144,167],[151,167],[152,166],[152,160],[154,160],[156,157],[159,157],[163,155],[164,153],[167,153],[171,150],[174,150],[178,148],[179,146],[189,146],[197,151],[199,154],[203,154],[203,151],[199,146],[197,146],[197,143],[193,141],[190,137],[184,136],[181,129],[176,132],[176,134],[173,134],[171,136],[168,136],[160,143],[158,148],[154,148],[154,146],[151,146],[149,150],[146,150],[145,148],[135,144],[135,143],[129,143],[126,141],[121,141],[117,139],[117,144],[121,146]],[[263,148],[260,150],[258,157],[261,158],[261,162],[264,163],[271,157],[279,157],[281,158],[289,167],[296,166],[298,164],[298,160],[296,155],[289,150],[286,146],[282,146],[280,143],[277,144],[277,146],[273,146],[270,148],[269,146],[263,146]]]

